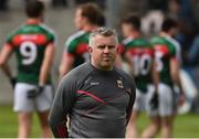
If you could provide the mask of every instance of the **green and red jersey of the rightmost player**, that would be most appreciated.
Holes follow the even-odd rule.
[[[159,82],[172,85],[170,75],[170,60],[176,58],[176,47],[166,38],[155,36],[151,39],[155,47],[157,71],[159,72]]]

